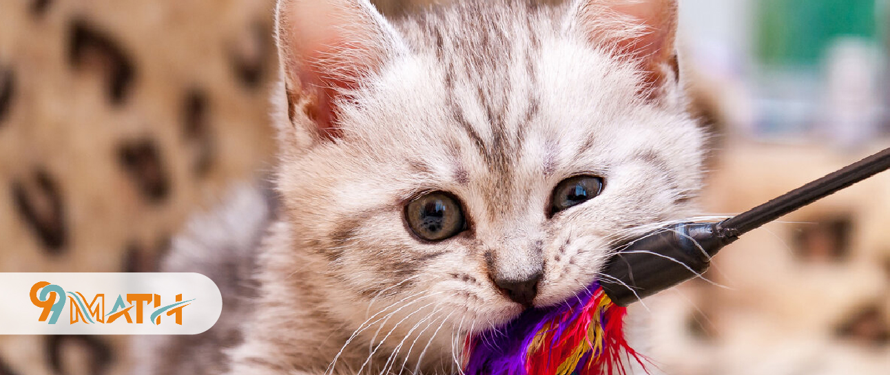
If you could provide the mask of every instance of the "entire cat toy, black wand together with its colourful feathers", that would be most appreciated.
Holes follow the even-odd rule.
[[[702,275],[740,235],[890,169],[890,148],[719,222],[660,227],[623,243],[585,291],[552,307],[530,308],[503,327],[465,341],[465,375],[625,374],[627,305]]]

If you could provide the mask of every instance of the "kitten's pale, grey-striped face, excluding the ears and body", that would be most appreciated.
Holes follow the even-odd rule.
[[[572,12],[495,8],[407,21],[398,52],[334,103],[336,138],[281,166],[295,251],[323,259],[361,320],[374,299],[378,311],[417,301],[464,329],[505,323],[525,308],[505,285],[559,303],[633,227],[689,214],[702,135],[675,91],[644,98],[639,68],[567,26]],[[576,176],[602,191],[553,210]],[[409,205],[431,193],[465,220],[432,241]]]

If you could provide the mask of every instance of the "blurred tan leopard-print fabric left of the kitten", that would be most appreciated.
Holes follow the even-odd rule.
[[[274,151],[271,0],[0,2],[0,271],[157,268]],[[0,375],[127,372],[127,338],[0,336]]]

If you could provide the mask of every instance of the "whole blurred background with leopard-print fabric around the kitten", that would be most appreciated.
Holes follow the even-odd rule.
[[[441,0],[444,2],[446,0]],[[456,0],[460,1],[460,0]],[[557,3],[551,0],[549,3]],[[379,0],[400,17],[427,0]],[[0,0],[0,272],[157,269],[190,212],[271,170],[272,0]],[[681,0],[702,209],[890,146],[885,0]],[[890,373],[890,174],[634,308],[671,375]],[[126,339],[0,337],[0,375],[123,374]]]

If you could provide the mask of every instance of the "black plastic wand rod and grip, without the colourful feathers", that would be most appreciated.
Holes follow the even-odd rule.
[[[601,272],[600,285],[612,302],[627,306],[701,275],[711,257],[740,235],[887,169],[890,148],[731,219],[659,228],[619,246]]]

